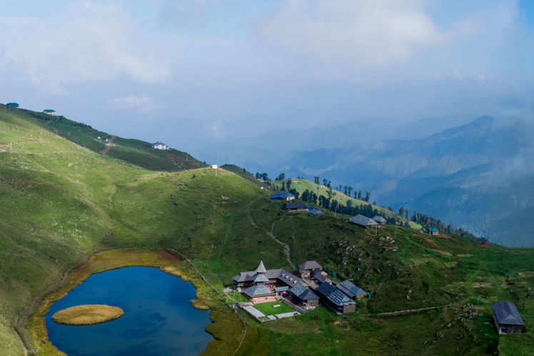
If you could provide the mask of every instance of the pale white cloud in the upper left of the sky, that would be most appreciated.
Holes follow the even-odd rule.
[[[37,88],[127,78],[161,83],[171,75],[154,45],[120,6],[84,1],[39,18],[0,18],[0,66]]]

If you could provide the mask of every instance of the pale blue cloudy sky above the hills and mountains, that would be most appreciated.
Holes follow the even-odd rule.
[[[534,108],[534,1],[9,1],[0,102],[211,163]]]

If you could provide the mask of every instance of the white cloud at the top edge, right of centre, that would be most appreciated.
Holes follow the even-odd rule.
[[[443,41],[422,1],[292,0],[266,21],[273,44],[327,63],[381,66]]]

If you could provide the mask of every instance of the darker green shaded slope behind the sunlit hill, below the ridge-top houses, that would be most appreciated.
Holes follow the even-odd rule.
[[[98,131],[91,126],[71,121],[63,116],[49,116],[29,110],[18,110],[27,116],[36,118],[46,130],[57,133],[59,136],[72,141],[80,146],[89,148],[91,151],[100,153],[106,146],[106,138],[109,133]],[[101,138],[100,140],[98,138]],[[151,171],[183,171],[205,167],[202,163],[186,152],[171,149],[168,151],[155,150],[151,143],[141,140],[116,137],[108,156],[120,158],[137,166]]]

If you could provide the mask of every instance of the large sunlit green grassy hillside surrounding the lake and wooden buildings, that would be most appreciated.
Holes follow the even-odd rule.
[[[316,259],[373,297],[358,302],[358,312],[346,318],[324,307],[263,325],[247,318],[243,353],[480,355],[499,347],[503,355],[527,355],[531,350],[530,327],[527,334],[501,337],[497,346],[485,322],[490,303],[508,298],[533,325],[533,299],[525,298],[534,284],[533,250],[487,250],[467,239],[394,226],[374,236],[331,216],[286,215],[283,203],[233,173],[145,171],[80,148],[32,120],[0,107],[0,143],[13,143],[11,151],[0,147],[8,151],[0,153],[0,204],[6,207],[0,210],[2,355],[21,355],[11,328],[16,314],[61,271],[100,246],[174,248],[196,258],[196,266],[222,290],[260,259],[267,268],[290,268],[266,233],[271,228],[291,246],[294,263]],[[386,235],[396,240],[396,253],[383,251],[380,237]],[[480,315],[469,314],[468,302]],[[418,315],[373,315],[449,303],[455,305]],[[214,310],[212,319],[219,321],[213,329],[238,334],[241,327],[230,316]],[[230,350],[224,345],[218,348]]]

